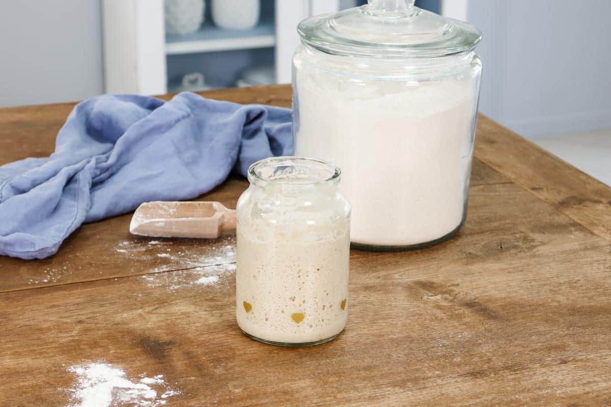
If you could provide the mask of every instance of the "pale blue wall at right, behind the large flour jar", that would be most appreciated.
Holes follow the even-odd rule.
[[[611,1],[469,0],[480,111],[525,137],[611,128]]]

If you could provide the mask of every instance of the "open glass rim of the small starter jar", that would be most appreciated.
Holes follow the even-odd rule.
[[[298,171],[288,171],[288,168],[298,168]],[[248,181],[255,185],[337,185],[341,177],[342,170],[332,162],[301,156],[269,157],[248,167]]]

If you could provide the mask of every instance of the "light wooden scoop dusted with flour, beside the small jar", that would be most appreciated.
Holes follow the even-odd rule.
[[[145,202],[131,218],[130,232],[153,237],[216,239],[235,234],[236,215],[220,202]]]

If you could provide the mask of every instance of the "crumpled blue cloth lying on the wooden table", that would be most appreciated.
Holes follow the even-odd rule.
[[[83,222],[195,198],[232,169],[293,151],[291,110],[180,93],[75,106],[48,158],[0,167],[0,254],[42,259]]]

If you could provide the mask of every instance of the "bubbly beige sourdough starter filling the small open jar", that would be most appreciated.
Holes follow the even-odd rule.
[[[259,339],[334,337],[348,315],[348,232],[318,242],[264,242],[238,232],[236,318]]]

